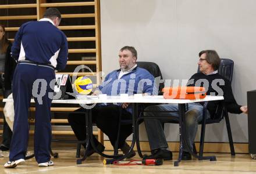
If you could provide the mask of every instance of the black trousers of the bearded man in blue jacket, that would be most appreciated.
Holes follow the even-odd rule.
[[[80,108],[77,111],[83,111]],[[115,104],[99,106],[96,105],[92,110],[92,120],[102,132],[104,132],[112,144],[115,146],[118,137],[119,115],[121,119],[131,119],[131,113]],[[121,113],[121,114],[120,114]],[[84,114],[72,113],[68,116],[69,124],[72,127],[74,134],[80,141],[86,140],[86,118]],[[126,138],[132,133],[132,125],[126,124],[120,126],[118,148],[125,144]],[[95,140],[95,137],[94,137]]]

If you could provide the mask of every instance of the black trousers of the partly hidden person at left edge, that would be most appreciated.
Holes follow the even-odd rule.
[[[7,98],[10,93],[12,93],[12,90],[6,90],[4,86],[4,79],[0,77],[0,88],[2,88],[3,92],[3,98]],[[3,106],[5,106],[5,103],[3,103]],[[3,140],[1,143],[1,146],[10,147],[10,140],[12,140],[12,130],[10,130],[5,117],[3,117]]]

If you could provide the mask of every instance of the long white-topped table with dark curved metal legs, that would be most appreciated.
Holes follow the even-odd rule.
[[[52,103],[65,103],[65,104],[80,104],[85,109],[86,113],[86,133],[87,133],[87,139],[86,139],[86,147],[88,147],[89,143],[91,143],[91,146],[94,148],[94,150],[106,158],[111,158],[105,160],[105,164],[112,164],[113,161],[117,160],[123,160],[126,158],[126,155],[130,153],[130,151],[133,149],[135,143],[136,143],[136,132],[137,132],[137,126],[136,126],[136,120],[138,117],[138,104],[139,103],[166,103],[166,104],[178,104],[179,106],[179,131],[180,131],[180,151],[179,151],[179,158],[177,161],[174,162],[175,166],[179,165],[179,162],[182,158],[182,151],[183,151],[183,144],[186,146],[186,139],[184,139],[184,128],[182,122],[185,118],[185,110],[186,110],[186,104],[187,103],[193,103],[193,102],[209,102],[213,100],[223,100],[223,96],[206,96],[204,99],[195,99],[195,100],[187,100],[187,99],[163,99],[163,96],[142,96],[142,95],[134,95],[134,96],[80,96],[77,99],[67,99],[67,100],[52,100]],[[3,102],[13,102],[12,99],[3,99]],[[31,102],[34,103],[34,100],[31,99]],[[93,138],[93,124],[91,121],[91,105],[97,104],[97,103],[131,103],[133,105],[133,117],[132,117],[132,123],[133,123],[133,133],[132,133],[132,142],[131,147],[129,150],[129,153],[125,155],[106,155],[97,150],[95,148],[95,144],[92,140]],[[189,152],[191,155],[194,155],[191,149],[189,149]],[[87,154],[85,152],[84,157],[77,160],[77,164],[81,164],[82,161],[84,161],[87,157]],[[196,155],[194,157],[198,158]],[[209,160],[216,160],[214,158],[207,158],[204,159]]]

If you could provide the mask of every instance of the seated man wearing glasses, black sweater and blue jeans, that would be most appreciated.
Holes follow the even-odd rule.
[[[234,99],[230,81],[218,74],[219,59],[215,50],[202,50],[199,53],[198,66],[200,73],[194,74],[187,83],[187,86],[204,86],[207,95],[223,96],[222,101],[208,102],[207,118],[212,118],[220,102],[223,102],[229,113],[247,114],[247,106],[240,106]],[[167,122],[161,117],[172,116],[173,119],[179,120],[179,113],[155,113],[150,111],[178,111],[177,104],[160,104],[145,108],[144,115],[159,117],[159,119],[145,119],[145,128],[147,130],[148,140],[152,155],[145,155],[145,159],[162,158],[163,160],[172,160],[172,152],[168,150],[162,123]],[[186,138],[190,149],[193,149],[195,134],[197,133],[198,122],[202,120],[203,106],[200,103],[189,103],[186,111]],[[170,121],[170,119],[168,119]],[[191,154],[186,147],[183,151],[182,160],[191,160]]]

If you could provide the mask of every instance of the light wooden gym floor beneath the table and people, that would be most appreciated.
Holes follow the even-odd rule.
[[[81,165],[76,165],[76,150],[54,150],[59,153],[59,158],[52,160],[55,165],[47,168],[39,168],[37,162],[32,158],[26,161],[25,165],[17,166],[14,169],[5,169],[3,164],[8,161],[8,152],[2,152],[4,157],[0,157],[0,173],[256,173],[256,160],[251,160],[248,154],[236,154],[236,157],[230,157],[230,154],[214,154],[217,161],[186,161],[181,162],[180,166],[173,166],[173,161],[164,161],[161,166],[116,166],[104,165],[104,158],[98,154],[88,157]],[[112,154],[112,151],[107,151]],[[147,152],[146,152],[147,153]],[[177,153],[173,153],[174,159],[177,159]],[[210,154],[207,154],[210,155]],[[140,160],[136,155],[134,160]]]

